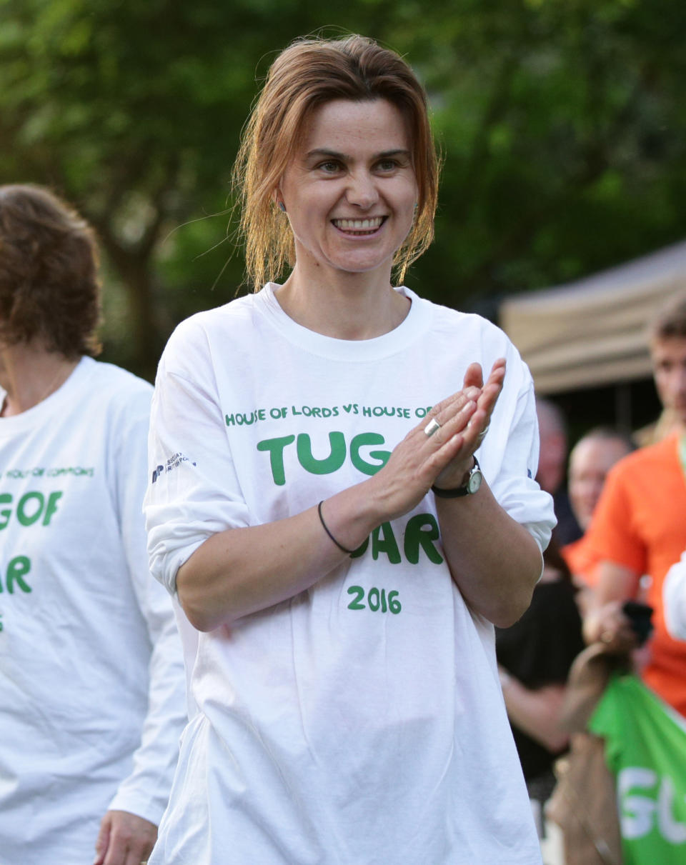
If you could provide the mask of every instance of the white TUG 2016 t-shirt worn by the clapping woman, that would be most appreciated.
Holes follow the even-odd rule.
[[[399,291],[406,319],[359,342],[296,324],[273,285],[177,328],[157,375],[145,504],[151,570],[170,592],[208,537],[374,474],[469,363],[488,374],[501,356],[478,458],[545,547],[555,517],[532,479],[528,369],[484,319]],[[187,662],[197,713],[154,865],[540,862],[493,627],[451,578],[433,494],[307,591],[199,634]]]

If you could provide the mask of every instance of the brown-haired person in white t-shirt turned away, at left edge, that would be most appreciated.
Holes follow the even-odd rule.
[[[93,359],[98,323],[91,227],[0,186],[3,865],[144,862],[185,720],[145,551],[152,388]]]

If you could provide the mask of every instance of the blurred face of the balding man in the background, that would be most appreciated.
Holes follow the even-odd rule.
[[[607,472],[629,452],[622,439],[580,439],[569,455],[568,492],[576,522],[586,531]]]

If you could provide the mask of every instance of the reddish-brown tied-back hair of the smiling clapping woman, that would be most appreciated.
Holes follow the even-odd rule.
[[[255,291],[276,279],[286,263],[294,264],[291,229],[276,205],[275,192],[311,112],[334,99],[386,99],[407,123],[418,195],[412,231],[395,253],[399,280],[433,240],[440,160],[426,93],[412,69],[394,51],[365,36],[298,39],[272,63],[234,164],[247,276]]]

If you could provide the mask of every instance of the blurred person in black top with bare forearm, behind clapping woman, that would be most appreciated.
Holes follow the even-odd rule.
[[[584,648],[576,590],[555,539],[543,562],[527,612],[510,628],[496,629],[503,697],[540,835],[555,787],[553,766],[568,744],[561,727],[567,676]]]

